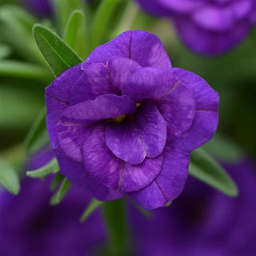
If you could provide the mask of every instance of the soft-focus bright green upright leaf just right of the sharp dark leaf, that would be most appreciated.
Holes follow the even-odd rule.
[[[86,57],[86,18],[81,10],[70,14],[64,40],[81,58]]]

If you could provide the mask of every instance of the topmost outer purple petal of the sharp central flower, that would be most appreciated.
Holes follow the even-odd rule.
[[[141,30],[126,31],[112,41],[98,46],[83,66],[98,62],[106,64],[113,57],[130,58],[141,66],[171,68],[170,59],[160,39]]]

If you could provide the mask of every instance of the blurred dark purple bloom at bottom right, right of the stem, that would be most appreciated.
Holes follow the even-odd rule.
[[[244,161],[228,166],[238,184],[238,198],[189,178],[179,200],[146,219],[133,213],[138,255],[256,255],[256,168]]]

